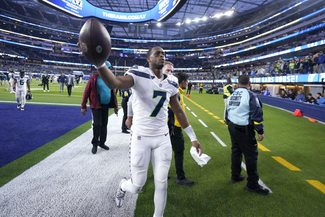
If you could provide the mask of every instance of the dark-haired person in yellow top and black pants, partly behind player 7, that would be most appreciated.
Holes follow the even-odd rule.
[[[178,78],[178,100],[182,106],[182,109],[185,111],[184,102],[183,102],[183,94],[184,90],[187,86],[187,79],[189,77],[186,73],[178,73],[175,75]],[[169,134],[171,137],[172,148],[174,151],[174,159],[175,159],[175,167],[176,167],[176,174],[177,179],[175,180],[176,183],[182,184],[185,186],[191,186],[194,184],[194,181],[186,178],[185,173],[183,170],[183,160],[184,160],[184,137],[182,133],[182,128],[174,114],[173,110],[168,107],[168,128]],[[170,177],[170,176],[169,176]]]

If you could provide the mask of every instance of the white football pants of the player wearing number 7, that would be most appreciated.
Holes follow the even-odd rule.
[[[133,194],[140,193],[147,180],[151,159],[154,176],[154,217],[163,216],[167,200],[167,176],[172,160],[172,144],[166,136],[132,135],[130,146],[131,179],[122,182],[121,189]]]

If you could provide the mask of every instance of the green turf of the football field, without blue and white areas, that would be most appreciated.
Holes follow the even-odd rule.
[[[37,86],[38,84],[35,81],[31,83],[31,93],[34,96],[31,102],[76,106],[81,104],[85,84],[75,87],[70,98],[67,96],[66,88],[63,93],[59,93],[58,84],[50,84],[50,92],[43,92],[43,89]],[[5,92],[4,86],[0,86],[0,101],[15,101],[15,96]],[[224,109],[222,95],[198,94],[198,91],[192,91],[191,97],[184,99],[184,103],[190,109],[190,111],[185,109],[185,112],[203,145],[204,153],[208,154],[211,160],[202,168],[194,162],[189,153],[190,141],[184,135],[186,148],[184,170],[186,176],[194,179],[196,183],[192,187],[176,184],[174,182],[176,178],[175,166],[174,160],[172,160],[169,172],[172,178],[168,181],[165,216],[324,215],[324,185],[318,185],[322,192],[306,181],[317,180],[325,184],[323,170],[325,165],[324,125],[310,122],[304,117],[296,117],[289,112],[270,106],[265,105],[263,107],[266,129],[265,138],[261,144],[270,151],[259,149],[258,172],[260,178],[273,191],[273,194],[257,195],[244,190],[246,181],[237,184],[229,182],[231,177],[231,142],[226,125],[219,121],[223,117]],[[27,106],[28,104],[26,108]],[[191,112],[198,117],[194,117]],[[198,119],[201,119],[208,127],[204,127]],[[89,128],[90,121],[73,131],[80,135]],[[210,132],[214,132],[227,146],[221,146]],[[58,139],[61,139],[59,142],[52,141],[53,144],[66,144],[73,140],[75,135],[72,136],[71,132],[69,133],[63,135],[62,138],[59,137]],[[30,156],[33,154],[37,156],[37,151],[43,153],[34,162],[28,163],[29,157],[26,154],[26,156],[1,168],[0,186],[60,147],[60,145],[55,145],[50,148],[50,145],[46,144],[40,147],[40,150],[36,149],[29,153]],[[272,157],[281,157],[300,171],[290,170]],[[24,167],[19,168],[24,164]],[[11,175],[2,176],[1,174],[5,172]],[[247,175],[244,170],[242,174]],[[135,215],[151,216],[154,212],[154,183],[151,166],[143,190],[144,192],[138,197]]]

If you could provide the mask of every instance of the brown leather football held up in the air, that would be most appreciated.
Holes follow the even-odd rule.
[[[90,18],[79,33],[80,49],[95,66],[101,66],[111,53],[111,37],[105,26],[95,18]]]

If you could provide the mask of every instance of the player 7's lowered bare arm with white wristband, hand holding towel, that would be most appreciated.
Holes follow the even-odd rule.
[[[171,105],[171,108],[173,109],[173,112],[176,115],[179,124],[190,138],[192,145],[197,148],[197,152],[200,153],[199,156],[201,156],[202,145],[198,141],[197,136],[194,134],[192,127],[189,125],[187,116],[177,99],[177,95],[174,95],[170,98],[169,104]]]

